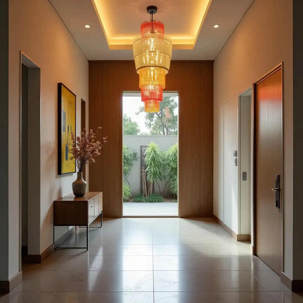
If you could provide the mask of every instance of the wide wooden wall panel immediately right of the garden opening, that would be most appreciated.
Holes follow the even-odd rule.
[[[179,91],[179,216],[200,217],[200,64],[172,62],[165,90]]]

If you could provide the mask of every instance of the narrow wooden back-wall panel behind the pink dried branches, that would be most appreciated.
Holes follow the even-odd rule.
[[[101,126],[98,131],[97,140],[103,138],[103,119],[102,119],[102,63],[90,63],[88,73],[88,125],[89,129]],[[101,155],[95,158],[95,163],[89,164],[88,170],[88,189],[89,191],[102,191],[102,163],[103,150],[100,150]]]

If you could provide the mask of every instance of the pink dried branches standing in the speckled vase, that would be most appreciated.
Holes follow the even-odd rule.
[[[100,155],[99,150],[102,148],[106,141],[106,138],[102,138],[102,142],[96,141],[96,133],[101,127],[96,127],[95,129],[90,129],[89,131],[80,132],[80,136],[75,136],[71,132],[72,145],[68,150],[72,157],[71,159],[78,168],[78,171],[83,171],[83,168],[87,163],[95,162],[95,157]]]

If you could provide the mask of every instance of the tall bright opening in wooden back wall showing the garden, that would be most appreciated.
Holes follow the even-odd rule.
[[[178,216],[178,92],[144,112],[140,92],[123,92],[123,216]]]

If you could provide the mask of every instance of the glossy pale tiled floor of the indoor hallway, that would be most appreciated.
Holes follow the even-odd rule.
[[[98,224],[98,222],[96,222]],[[80,228],[65,247],[86,243]],[[212,219],[123,218],[90,228],[89,251],[23,265],[0,303],[302,303]]]

